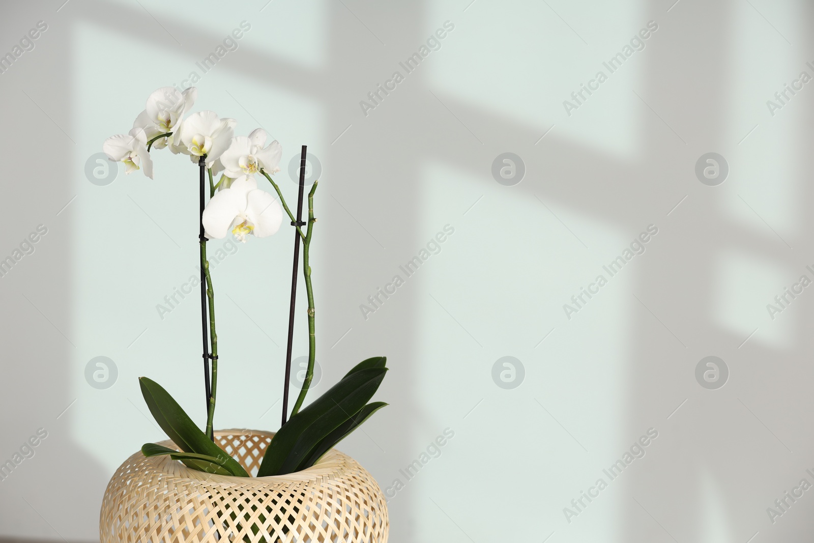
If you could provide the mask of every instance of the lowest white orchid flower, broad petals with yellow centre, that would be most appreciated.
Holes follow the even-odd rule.
[[[202,221],[207,238],[225,238],[231,230],[238,241],[246,243],[248,234],[265,238],[276,233],[282,208],[274,196],[257,188],[254,177],[244,175],[212,196]]]

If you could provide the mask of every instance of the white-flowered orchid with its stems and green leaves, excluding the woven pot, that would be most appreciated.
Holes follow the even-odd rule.
[[[276,234],[282,226],[282,217],[287,217],[286,222],[288,222],[288,218],[291,219],[291,226],[296,231],[295,254],[299,252],[300,243],[302,244],[302,272],[308,300],[309,331],[308,366],[300,393],[291,408],[290,420],[294,421],[300,414],[300,407],[311,387],[316,363],[317,340],[310,247],[314,225],[317,222],[316,217],[313,216],[313,195],[317,190],[318,182],[313,182],[308,194],[307,221],[299,220],[303,211],[304,197],[302,186],[300,186],[298,208],[296,209],[298,219],[295,220],[295,215],[288,208],[280,187],[271,177],[280,171],[282,147],[279,142],[275,140],[266,145],[269,134],[265,132],[265,129],[260,128],[253,130],[248,136],[234,138],[234,127],[237,125],[237,121],[234,119],[221,119],[211,111],[189,113],[196,97],[195,87],[184,91],[179,91],[174,87],[162,87],[155,90],[147,99],[147,107],[138,115],[129,134],[118,134],[107,138],[103,145],[103,151],[110,160],[125,163],[127,173],[142,169],[151,179],[153,178],[153,164],[148,146],[169,147],[173,153],[190,155],[190,159],[195,164],[197,174],[195,177],[198,179],[198,186],[193,187],[198,196],[199,209],[203,209],[203,212],[199,216],[196,214],[195,217],[200,221],[195,226],[195,233],[199,234],[196,236],[195,244],[199,246],[200,263],[200,316],[204,392],[206,392],[205,432],[200,431],[195,424],[191,423],[181,406],[177,405],[177,402],[164,388],[161,388],[155,381],[142,377],[139,379],[142,395],[155,420],[176,443],[182,441],[186,443],[182,448],[183,453],[156,444],[145,444],[142,446],[142,454],[146,457],[170,454],[173,458],[182,455],[177,459],[192,469],[247,477],[249,476],[247,471],[240,467],[238,462],[234,462],[225,449],[221,449],[218,444],[213,443],[217,405],[218,340],[215,319],[215,287],[212,283],[211,261],[207,258],[208,239],[223,239],[231,233],[236,240],[246,243],[249,235],[265,238]],[[303,147],[303,151],[305,151],[305,147]],[[221,180],[215,185],[214,177],[221,172]],[[257,188],[256,173],[261,173],[266,177],[276,190],[276,194]],[[190,177],[192,176],[190,175]],[[207,177],[209,182],[208,204],[206,204]],[[192,211],[190,200],[185,199],[183,204],[186,205],[189,212]],[[190,235],[190,243],[192,241],[193,238]],[[298,257],[299,254],[295,256],[295,258]],[[295,271],[296,262],[295,260]],[[245,277],[242,280],[245,280]],[[296,280],[292,286],[292,308],[295,291]],[[159,314],[162,314],[161,311]],[[292,345],[291,330],[293,329],[289,331],[289,352],[291,352]],[[344,401],[340,396],[345,392],[357,395],[354,401],[350,403],[346,401],[344,404],[348,407],[356,405],[352,412],[346,411],[344,416],[339,414],[335,417],[335,423],[347,430],[340,432],[341,436],[335,435],[336,432],[332,432],[329,436],[323,436],[324,432],[318,434],[319,429],[313,430],[315,427],[302,417],[296,420],[305,420],[304,425],[287,423],[289,410],[286,396],[282,404],[282,423],[285,426],[272,443],[274,446],[266,448],[262,462],[257,468],[257,476],[285,475],[312,466],[318,458],[322,458],[322,454],[347,436],[353,428],[364,422],[374,411],[387,405],[383,402],[367,403],[387,371],[385,362],[384,357],[373,357],[362,361],[344,377],[341,383],[345,384],[339,385],[338,388],[331,388],[317,401],[319,405],[330,406],[337,401]],[[337,396],[336,390],[341,393],[339,396]],[[313,405],[317,405],[317,402]],[[288,432],[288,437],[283,436],[285,432]],[[176,434],[178,437],[174,437]]]

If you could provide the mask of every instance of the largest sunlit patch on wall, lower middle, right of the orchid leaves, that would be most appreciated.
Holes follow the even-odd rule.
[[[444,450],[445,462],[459,467],[435,470],[411,483],[407,497],[424,519],[417,529],[426,537],[419,539],[451,529],[428,497],[444,508],[449,504],[439,501],[443,488],[478,495],[483,480],[531,477],[527,490],[515,488],[520,494],[511,504],[483,495],[482,505],[507,516],[513,508],[517,515],[520,507],[540,523],[565,525],[563,508],[602,476],[597,458],[618,456],[624,449],[619,420],[627,404],[628,299],[637,272],[625,269],[610,278],[593,299],[583,298],[588,303],[569,320],[563,304],[606,273],[602,256],[586,250],[519,187],[484,182],[438,162],[426,164],[418,177],[424,195],[418,239],[430,243],[447,225],[454,233],[429,245],[427,261],[386,303],[412,296],[420,307],[414,363],[424,409],[415,448],[424,444],[424,433],[453,427],[456,437]],[[629,243],[593,217],[556,202],[548,205],[595,247],[619,246],[621,251]],[[417,255],[427,243],[416,247]],[[506,356],[519,360],[522,370],[502,366],[495,377],[498,359]],[[501,370],[510,373],[502,376]],[[514,379],[522,383],[510,388]],[[492,430],[485,435],[483,428]],[[509,449],[507,443],[512,443]],[[466,452],[472,450],[477,453]],[[536,458],[546,458],[545,465]],[[530,463],[536,466],[531,475]],[[479,480],[459,475],[475,471]],[[545,484],[546,492],[537,492],[536,484]],[[537,524],[511,524],[500,532],[498,523],[475,511],[446,512],[488,538],[540,536]],[[616,513],[613,498],[600,499],[580,518],[580,530],[592,541],[610,541]]]

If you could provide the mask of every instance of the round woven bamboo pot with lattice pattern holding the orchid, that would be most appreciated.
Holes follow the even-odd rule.
[[[252,475],[273,436],[215,432]],[[210,475],[139,451],[107,484],[99,519],[101,543],[386,543],[388,530],[379,485],[336,449],[307,470],[259,478]]]

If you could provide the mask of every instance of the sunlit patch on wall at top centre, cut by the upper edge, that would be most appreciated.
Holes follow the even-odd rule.
[[[483,112],[480,119],[463,120],[484,137],[505,123],[502,132],[510,142],[532,145],[556,125],[555,138],[632,157],[641,143],[639,119],[646,106],[630,89],[641,86],[648,44],[658,33],[631,42],[647,25],[639,2],[594,2],[587,9],[549,4],[478,2],[455,17],[431,5],[427,36],[446,19],[455,24],[442,48],[425,61],[431,88],[442,99]],[[602,28],[595,28],[597,20]],[[608,28],[615,29],[612,35]],[[527,51],[536,65],[517,50]],[[616,63],[606,67],[617,54]]]

